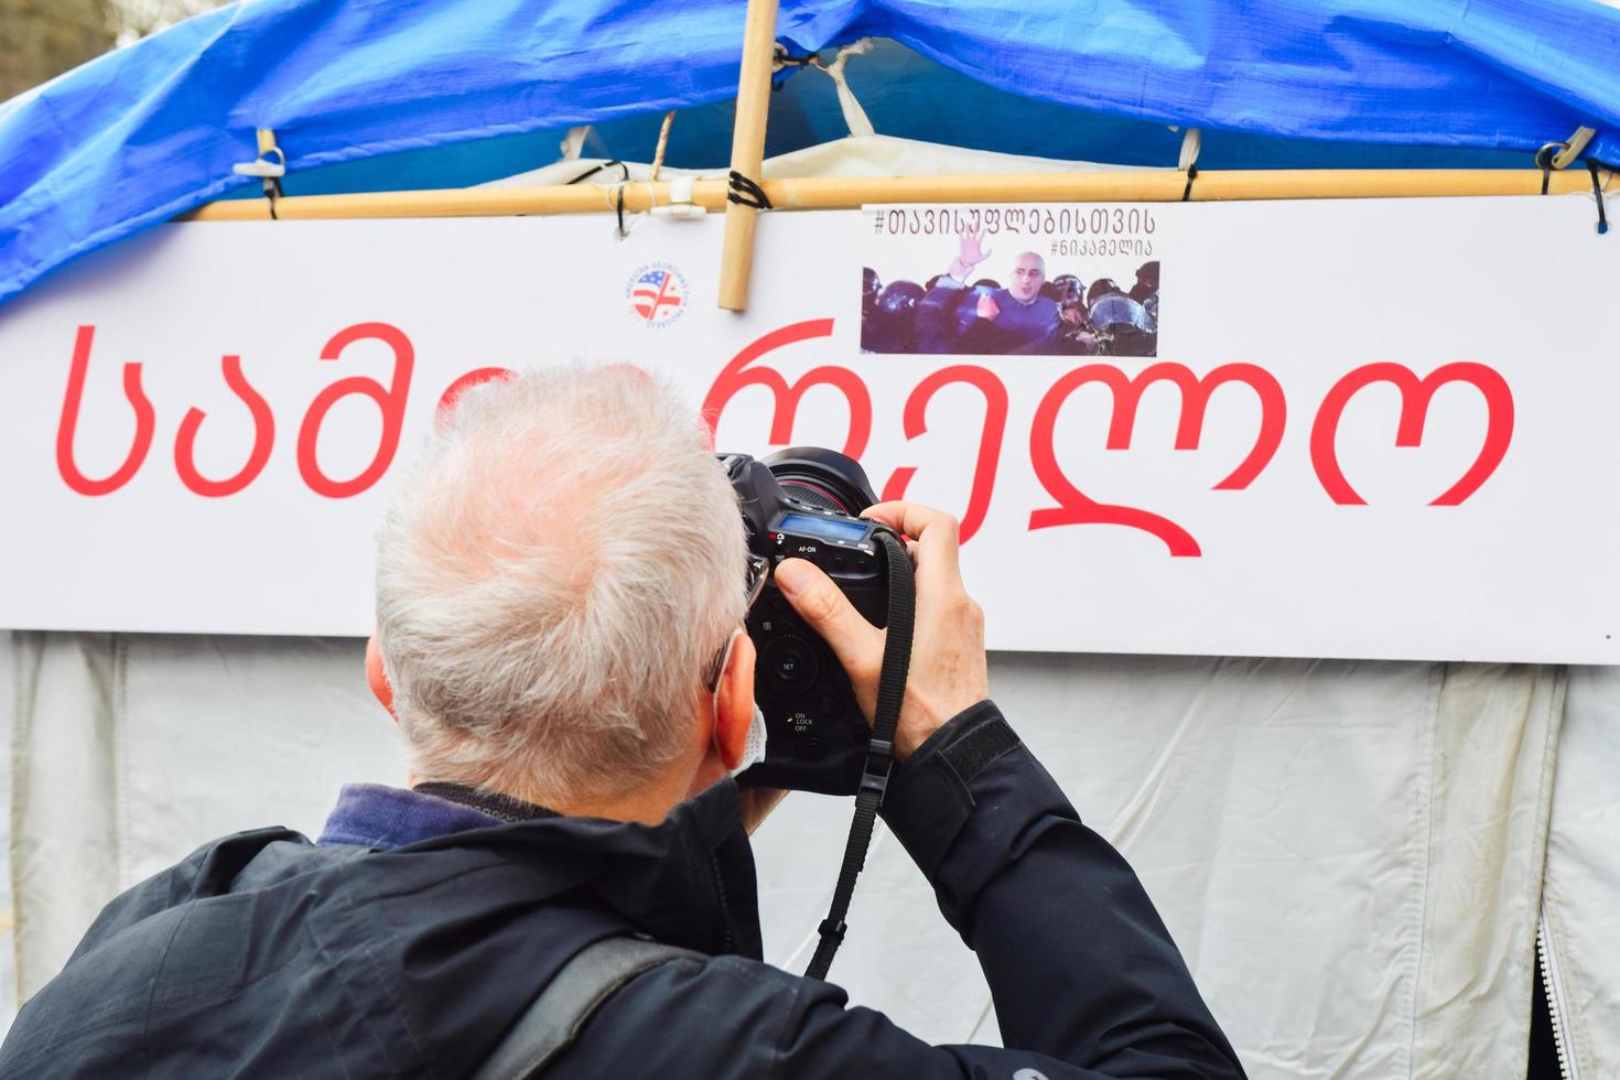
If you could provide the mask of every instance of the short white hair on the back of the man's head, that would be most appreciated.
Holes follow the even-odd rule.
[[[656,774],[745,615],[744,567],[731,483],[671,387],[625,366],[473,387],[377,542],[413,774],[551,805]]]

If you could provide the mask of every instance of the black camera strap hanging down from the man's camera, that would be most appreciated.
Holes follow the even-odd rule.
[[[860,790],[855,793],[855,818],[849,823],[849,840],[844,844],[844,865],[838,871],[833,904],[821,920],[821,941],[816,942],[808,978],[826,978],[833,967],[833,954],[844,944],[849,928],[849,902],[855,895],[855,878],[867,865],[867,848],[872,845],[872,829],[883,808],[883,793],[894,771],[894,729],[901,719],[901,701],[906,698],[906,674],[910,669],[912,628],[917,615],[917,583],[912,578],[910,555],[906,546],[889,531],[876,533],[883,544],[889,570],[889,622],[883,643],[883,669],[878,675],[878,708],[872,716],[872,742],[867,746],[867,764],[860,772]]]

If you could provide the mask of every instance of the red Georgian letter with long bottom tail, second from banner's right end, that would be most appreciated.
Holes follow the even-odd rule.
[[[1215,491],[1241,491],[1254,483],[1254,478],[1270,463],[1277,447],[1283,440],[1283,427],[1288,423],[1288,402],[1283,387],[1264,368],[1254,364],[1223,364],[1199,379],[1181,364],[1152,364],[1144,368],[1134,379],[1118,368],[1106,364],[1085,364],[1064,374],[1042,398],[1035,410],[1035,421],[1030,426],[1029,452],[1035,466],[1035,476],[1042,486],[1058,500],[1059,505],[1035,510],[1029,515],[1029,528],[1045,529],[1056,525],[1123,525],[1132,529],[1152,533],[1165,542],[1174,557],[1197,557],[1202,554],[1192,534],[1184,528],[1157,513],[1137,507],[1119,507],[1102,504],[1082,494],[1063,474],[1058,455],[1053,449],[1053,429],[1058,423],[1058,411],[1068,397],[1087,382],[1100,382],[1113,392],[1113,419],[1108,424],[1110,450],[1129,450],[1131,431],[1136,426],[1136,410],[1142,400],[1142,392],[1153,382],[1170,381],[1181,390],[1181,421],[1176,426],[1176,449],[1197,450],[1204,432],[1204,415],[1209,408],[1210,395],[1226,382],[1243,382],[1260,398],[1260,431],[1256,436],[1254,449],[1231,471],[1226,479],[1215,484]]]

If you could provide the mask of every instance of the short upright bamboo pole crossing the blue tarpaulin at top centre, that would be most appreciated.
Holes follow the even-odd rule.
[[[776,0],[748,0],[737,74],[737,121],[731,131],[731,172],[758,181],[765,164],[765,118],[771,112],[771,62],[776,57]],[[721,308],[748,309],[753,225],[760,210],[726,202],[726,238],[719,254]]]

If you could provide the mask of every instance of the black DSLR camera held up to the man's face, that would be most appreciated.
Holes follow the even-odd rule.
[[[776,588],[774,565],[782,559],[815,563],[870,623],[888,625],[888,562],[876,534],[889,529],[855,517],[876,495],[860,465],[833,450],[794,447],[763,461],[745,453],[716,457],[737,492],[748,551],[773,567],[748,612],[766,756],[737,782],[854,795],[872,730],[831,646]]]

